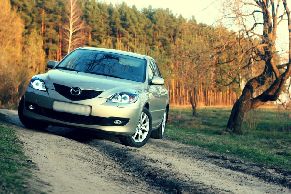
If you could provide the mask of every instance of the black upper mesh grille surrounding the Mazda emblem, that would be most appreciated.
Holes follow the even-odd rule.
[[[96,91],[96,90],[82,90],[80,95],[72,95],[70,92],[71,88],[68,86],[54,83],[54,87],[55,87],[55,90],[60,95],[66,97],[67,99],[70,99],[72,101],[95,98],[102,93],[102,91]]]

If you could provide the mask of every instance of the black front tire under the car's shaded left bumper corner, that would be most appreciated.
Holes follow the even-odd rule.
[[[29,129],[38,129],[43,130],[49,126],[48,123],[43,121],[38,121],[35,119],[28,118],[23,115],[23,109],[24,109],[24,95],[20,99],[19,105],[18,105],[18,117],[20,119],[20,122]]]

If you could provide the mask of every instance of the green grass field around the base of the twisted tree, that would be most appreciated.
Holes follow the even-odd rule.
[[[291,170],[291,112],[283,108],[249,111],[242,135],[223,132],[231,107],[197,110],[172,108],[166,134],[173,140],[205,147],[217,154],[237,157],[268,167]]]

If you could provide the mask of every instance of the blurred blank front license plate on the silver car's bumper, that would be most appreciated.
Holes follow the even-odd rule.
[[[91,106],[59,101],[54,101],[53,109],[55,111],[68,112],[85,116],[89,116],[91,113]]]

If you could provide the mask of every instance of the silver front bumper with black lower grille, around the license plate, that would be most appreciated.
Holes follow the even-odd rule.
[[[88,105],[91,108],[89,116],[77,115],[53,110],[54,101]],[[106,102],[106,98],[92,98],[71,101],[52,89],[46,92],[27,88],[25,92],[26,117],[48,122],[50,125],[62,125],[95,130],[115,135],[132,135],[135,133],[142,112],[138,102],[132,104]],[[28,107],[32,105],[34,109]],[[121,125],[114,124],[115,120],[122,121]]]

